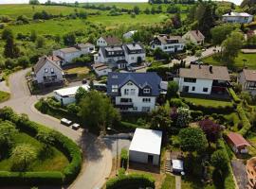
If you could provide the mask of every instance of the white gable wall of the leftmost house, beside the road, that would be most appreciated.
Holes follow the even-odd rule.
[[[46,73],[46,69],[48,71],[47,73]],[[51,71],[50,71],[51,69],[53,69],[54,71],[53,74],[51,74]],[[44,83],[44,77],[51,77],[51,76],[57,76],[54,82],[59,82],[64,80],[63,71],[58,69],[56,66],[52,65],[48,61],[46,61],[45,65],[39,70],[38,73],[36,73],[36,80],[38,83]]]

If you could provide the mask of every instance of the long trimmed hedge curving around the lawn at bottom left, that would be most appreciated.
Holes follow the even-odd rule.
[[[18,115],[10,108],[3,108],[0,110],[0,118],[3,120],[9,120],[16,124],[17,128],[27,132],[32,136],[40,131],[40,129],[47,129],[45,126],[37,124],[27,119],[24,115]],[[61,132],[54,129],[50,129],[54,133],[55,143],[53,146],[63,151],[69,160],[69,164],[64,168],[62,172],[5,172],[0,174],[0,180],[9,182],[9,178],[20,180],[18,183],[37,183],[37,184],[63,184],[70,183],[79,174],[82,167],[82,151],[72,140],[64,136]],[[38,181],[38,182],[37,182]],[[1,182],[2,183],[2,182]],[[17,182],[11,182],[17,184]]]

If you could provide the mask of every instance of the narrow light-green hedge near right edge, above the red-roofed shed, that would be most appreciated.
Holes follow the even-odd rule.
[[[236,112],[238,113],[242,123],[243,128],[238,131],[238,133],[242,134],[243,136],[247,136],[247,132],[249,129],[251,129],[251,124],[249,123],[249,120],[247,118],[246,112],[243,109],[243,105],[239,104],[236,108]]]

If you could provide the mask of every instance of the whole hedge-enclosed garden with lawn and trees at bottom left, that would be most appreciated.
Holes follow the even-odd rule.
[[[63,185],[76,179],[82,151],[73,141],[7,107],[0,119],[1,185]]]

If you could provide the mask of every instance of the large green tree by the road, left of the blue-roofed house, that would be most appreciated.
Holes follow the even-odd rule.
[[[83,123],[97,132],[104,131],[106,127],[118,124],[119,112],[113,107],[110,99],[97,91],[88,92],[80,102],[79,116]]]

